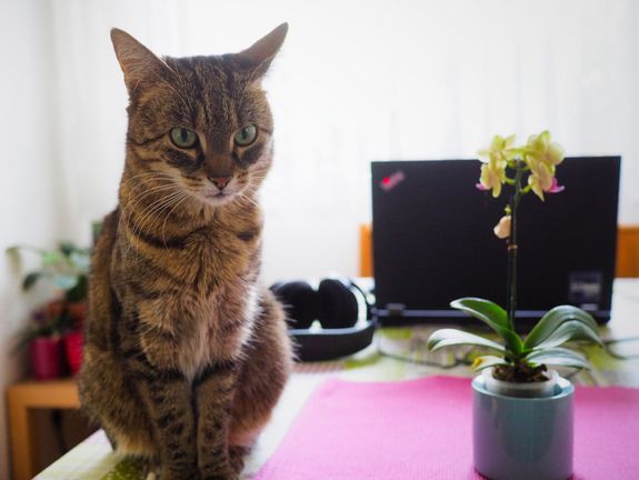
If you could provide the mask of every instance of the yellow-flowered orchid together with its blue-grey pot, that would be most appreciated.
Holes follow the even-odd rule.
[[[543,131],[515,147],[515,136],[496,136],[479,152],[480,190],[498,198],[510,188],[506,214],[495,233],[506,239],[508,251],[508,306],[485,299],[461,298],[450,306],[490,327],[501,341],[456,330],[437,330],[430,350],[476,346],[490,352],[472,368],[481,373],[472,381],[473,460],[483,476],[499,479],[568,479],[572,474],[572,384],[549,367],[589,368],[586,358],[567,348],[568,342],[601,344],[597,323],[586,311],[559,306],[548,311],[525,338],[515,329],[517,310],[517,210],[521,198],[533,192],[563,190],[555,177],[563,149]]]

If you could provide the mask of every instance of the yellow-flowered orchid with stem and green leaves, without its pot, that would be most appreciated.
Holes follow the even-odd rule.
[[[515,136],[496,136],[488,149],[478,152],[481,174],[477,188],[492,191],[498,198],[502,190],[512,190],[506,214],[495,227],[495,234],[506,239],[508,249],[508,306],[500,306],[479,298],[461,298],[450,306],[462,310],[490,327],[501,338],[497,342],[473,333],[456,329],[441,329],[428,340],[430,350],[452,346],[482,347],[497,354],[478,357],[472,363],[475,370],[493,367],[493,377],[506,381],[542,381],[547,377],[546,366],[590,368],[588,360],[569,348],[571,341],[587,341],[601,344],[595,319],[586,311],[572,306],[559,306],[549,310],[526,338],[515,330],[517,310],[517,209],[521,198],[533,192],[540,200],[545,194],[559,193],[555,177],[557,167],[563,161],[563,149],[552,142],[550,133],[543,131],[531,136],[525,146],[515,146]]]

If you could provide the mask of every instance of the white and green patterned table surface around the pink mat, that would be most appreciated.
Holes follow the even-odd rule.
[[[602,329],[607,339],[639,338],[639,280],[618,280],[615,284],[612,320]],[[412,327],[385,329],[376,336],[376,342],[358,354],[333,362],[317,362],[296,366],[273,418],[264,429],[247,461],[244,478],[252,474],[273,453],[296,416],[312,390],[330,377],[353,381],[397,381],[430,374],[470,377],[463,364],[452,366],[459,353],[442,351],[429,353],[425,344],[437,327]],[[627,351],[635,356],[620,361],[597,348],[586,353],[595,370],[582,371],[571,380],[578,384],[627,386],[639,388],[639,340],[627,342]],[[387,354],[412,360],[403,361]],[[435,362],[450,368],[420,363]],[[111,452],[104,434],[100,431],[67,453],[38,477],[37,480],[89,480],[89,479],[139,479],[140,468],[133,461],[122,460]]]

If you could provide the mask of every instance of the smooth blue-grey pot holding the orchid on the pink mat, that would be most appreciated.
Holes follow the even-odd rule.
[[[516,398],[472,380],[475,468],[492,480],[566,480],[572,474],[572,397],[559,377],[555,394]]]

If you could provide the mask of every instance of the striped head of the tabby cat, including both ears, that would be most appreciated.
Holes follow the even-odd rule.
[[[261,183],[271,161],[272,117],[260,79],[286,24],[251,48],[220,57],[154,57],[127,33],[111,34],[129,89],[128,148],[136,174],[166,196],[220,206]]]

